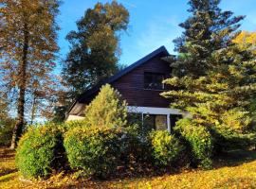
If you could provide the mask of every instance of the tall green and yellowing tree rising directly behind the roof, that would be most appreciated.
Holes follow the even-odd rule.
[[[125,31],[129,12],[121,4],[97,3],[87,9],[77,22],[77,31],[71,31],[66,39],[71,49],[64,63],[63,77],[70,89],[69,98],[114,75],[120,54],[119,34]]]

